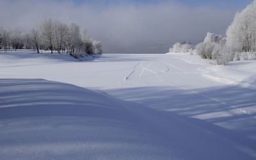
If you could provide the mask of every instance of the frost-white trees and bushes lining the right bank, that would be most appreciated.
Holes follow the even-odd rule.
[[[174,44],[170,52],[187,52],[189,45]],[[215,61],[217,65],[227,65],[229,61],[256,60],[256,0],[242,12],[237,12],[228,27],[226,37],[207,33],[204,42],[196,45],[196,51],[204,59]]]

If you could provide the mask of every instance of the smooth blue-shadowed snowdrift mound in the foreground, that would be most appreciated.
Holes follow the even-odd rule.
[[[253,159],[241,150],[182,116],[103,92],[0,80],[0,159]]]

